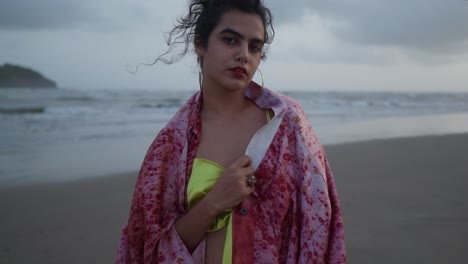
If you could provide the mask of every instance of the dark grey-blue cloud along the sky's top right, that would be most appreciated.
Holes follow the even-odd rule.
[[[277,23],[306,11],[322,17],[341,40],[398,47],[409,53],[452,56],[468,52],[468,1],[270,1]],[[304,8],[305,7],[305,8]]]

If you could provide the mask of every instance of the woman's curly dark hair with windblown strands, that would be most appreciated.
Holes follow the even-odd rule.
[[[166,64],[177,62],[187,54],[190,45],[200,45],[206,48],[211,32],[218,25],[224,13],[231,10],[259,15],[265,28],[265,43],[271,44],[273,42],[275,35],[273,17],[262,0],[191,0],[188,14],[179,18],[177,24],[168,33],[166,38],[168,50],[157,57],[153,63],[141,63],[141,65],[154,65],[158,61]],[[175,52],[177,48],[180,50]],[[266,59],[265,53],[264,50],[263,60]]]

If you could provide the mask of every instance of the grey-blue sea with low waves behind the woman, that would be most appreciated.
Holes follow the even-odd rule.
[[[0,89],[0,186],[136,172],[194,92]],[[324,145],[468,132],[468,93],[279,92],[302,105]]]

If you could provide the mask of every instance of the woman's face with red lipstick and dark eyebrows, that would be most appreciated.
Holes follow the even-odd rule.
[[[241,90],[252,80],[262,57],[265,29],[260,16],[232,10],[213,29],[206,48],[196,47],[203,88]]]

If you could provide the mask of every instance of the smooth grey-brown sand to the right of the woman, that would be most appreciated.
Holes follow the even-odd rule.
[[[326,150],[349,263],[467,263],[468,135]]]

